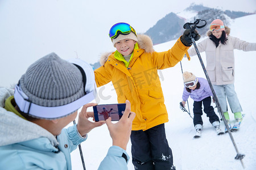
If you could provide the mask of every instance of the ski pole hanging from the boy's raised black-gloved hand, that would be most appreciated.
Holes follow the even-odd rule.
[[[241,162],[241,164],[242,164],[242,167],[243,167],[243,169],[244,169],[245,166],[243,165],[242,159],[245,157],[245,155],[244,155],[244,154],[240,154],[240,152],[238,151],[238,148],[237,148],[237,146],[236,146],[236,143],[234,142],[233,135],[231,134],[231,132],[230,132],[230,130],[229,130],[228,123],[226,122],[226,119],[225,119],[224,114],[223,114],[223,112],[222,112],[222,109],[221,109],[221,107],[220,107],[220,103],[218,102],[217,95],[216,95],[216,93],[215,93],[215,91],[214,91],[214,89],[213,89],[212,82],[210,82],[209,75],[208,75],[208,73],[207,73],[207,70],[205,69],[203,59],[202,59],[201,56],[200,56],[200,52],[199,52],[199,49],[197,48],[196,41],[195,41],[194,37],[192,36],[192,32],[193,32],[196,28],[203,28],[203,27],[206,25],[206,21],[205,21],[205,20],[201,20],[201,21],[204,21],[205,24],[202,25],[202,26],[197,26],[197,24],[199,24],[200,20],[201,20],[201,19],[196,19],[196,21],[195,21],[194,23],[185,23],[185,24],[183,25],[183,28],[184,28],[184,29],[190,29],[189,34],[190,34],[190,36],[191,36],[192,43],[193,43],[193,45],[195,46],[195,50],[196,50],[197,56],[198,56],[198,58],[199,58],[199,61],[200,61],[200,63],[201,63],[201,66],[203,67],[204,74],[205,74],[205,76],[206,76],[206,78],[207,78],[207,81],[208,81],[208,83],[209,83],[210,90],[212,91],[212,94],[213,94],[213,97],[214,97],[214,100],[215,100],[215,104],[217,105],[217,108],[218,108],[218,112],[221,113],[221,116],[222,116],[222,119],[224,120],[224,124],[225,124],[225,126],[226,126],[226,129],[228,129],[229,137],[231,138],[231,140],[232,140],[232,142],[233,142],[233,145],[234,145],[234,148],[236,149],[237,155],[236,155],[235,159],[237,159],[237,160],[239,159],[239,160],[240,160],[240,162]],[[193,25],[193,26],[191,27],[191,25]]]

